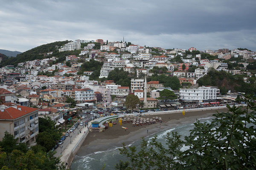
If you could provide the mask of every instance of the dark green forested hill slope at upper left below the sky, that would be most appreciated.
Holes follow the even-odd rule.
[[[62,52],[62,53],[58,52],[58,48],[60,48],[60,46],[66,44],[67,42],[70,42],[70,41],[68,41],[68,40],[56,41],[56,42],[52,42],[49,44],[40,45],[38,47],[32,48],[31,50],[25,51],[21,54],[17,54],[17,57],[10,57],[8,59],[3,60],[1,63],[1,66],[17,65],[19,62],[31,61],[34,59],[43,59],[44,53],[47,53],[49,51],[52,51],[53,54],[46,56],[47,58],[52,57],[52,56],[58,57],[58,56],[62,56],[65,54],[70,55],[70,52],[67,52],[67,51]],[[57,54],[58,54],[58,56],[57,56]]]

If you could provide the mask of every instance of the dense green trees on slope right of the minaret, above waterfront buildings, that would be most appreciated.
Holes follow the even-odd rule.
[[[151,77],[148,77],[148,82],[150,81],[159,81],[164,87],[170,87],[172,90],[178,90],[180,88],[180,80],[176,76],[171,77],[164,74],[153,74]]]

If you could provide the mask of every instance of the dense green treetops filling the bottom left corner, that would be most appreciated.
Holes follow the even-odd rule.
[[[5,133],[0,141],[1,170],[64,170],[65,165],[54,152],[45,152],[44,147],[32,146],[29,150],[25,143],[17,144],[13,135]]]

